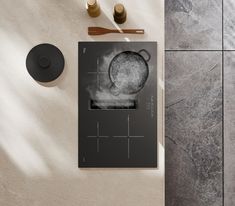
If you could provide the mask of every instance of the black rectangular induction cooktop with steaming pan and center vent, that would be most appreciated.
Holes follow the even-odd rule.
[[[79,42],[79,167],[157,167],[156,42]]]

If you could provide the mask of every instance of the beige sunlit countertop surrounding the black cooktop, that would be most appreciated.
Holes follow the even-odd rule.
[[[117,26],[115,0],[100,0],[95,19],[82,0],[0,0],[0,205],[164,205],[164,0],[118,2],[128,13],[121,28],[145,35],[87,35],[88,26]],[[158,42],[159,168],[79,169],[78,41],[137,40]],[[42,85],[25,59],[44,42],[60,48],[66,62],[58,80]]]

